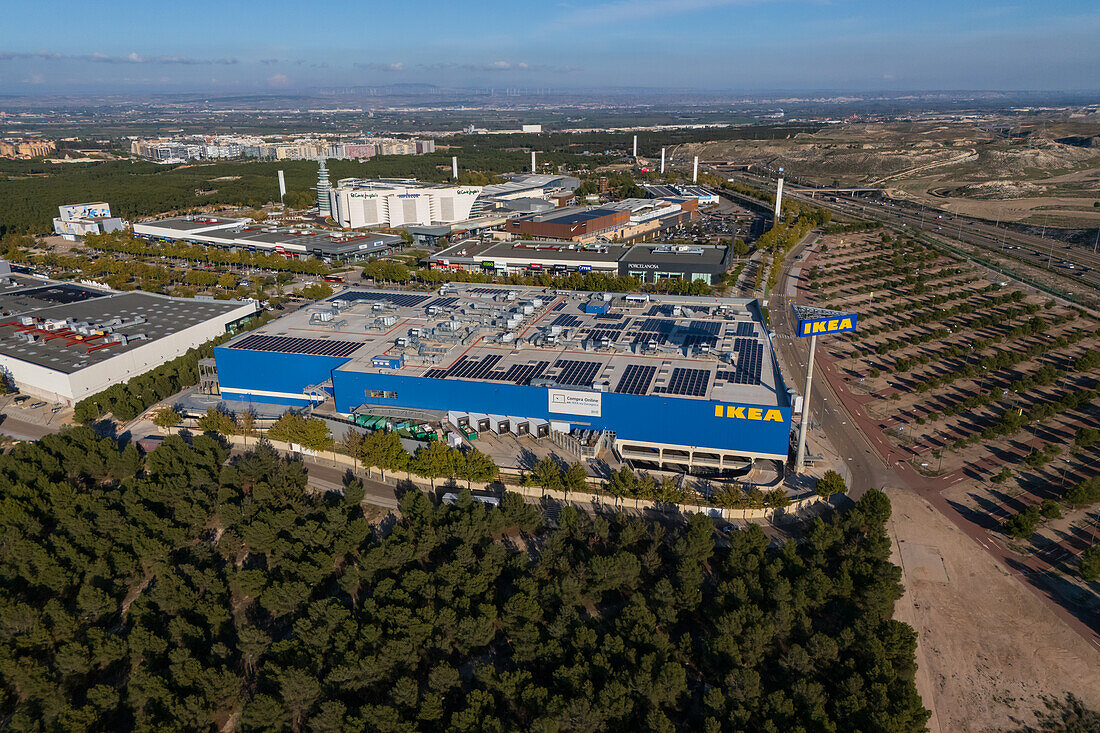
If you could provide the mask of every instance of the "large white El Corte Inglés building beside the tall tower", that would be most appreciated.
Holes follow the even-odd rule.
[[[405,178],[343,178],[329,200],[341,227],[426,227],[469,219],[481,190]]]

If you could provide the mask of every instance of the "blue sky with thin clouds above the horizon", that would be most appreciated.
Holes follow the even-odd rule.
[[[1100,2],[9,0],[0,91],[1100,88]]]

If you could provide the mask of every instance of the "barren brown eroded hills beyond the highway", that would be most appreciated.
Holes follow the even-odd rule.
[[[1097,226],[1100,147],[1068,141],[1096,140],[1100,121],[1005,125],[1014,136],[988,121],[845,123],[785,140],[686,144],[676,155],[782,166],[826,185],[889,185],[892,195],[991,221]]]

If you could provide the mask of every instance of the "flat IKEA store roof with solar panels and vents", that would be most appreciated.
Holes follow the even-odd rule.
[[[585,311],[602,297],[473,283],[433,293],[349,287],[226,348],[249,339],[240,348],[344,355],[342,371],[516,384],[535,379],[630,394],[789,404],[756,300],[609,294],[608,313]],[[398,338],[407,343],[397,346]],[[403,357],[405,365],[375,366],[373,359],[383,355]]]

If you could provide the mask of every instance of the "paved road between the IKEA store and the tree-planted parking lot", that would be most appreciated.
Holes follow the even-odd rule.
[[[801,249],[801,247],[795,249],[792,254],[798,254]],[[793,378],[798,380],[795,383],[802,391],[805,383],[805,361],[810,350],[809,339],[791,337],[793,318],[790,314],[790,298],[779,295],[787,292],[787,278],[791,266],[790,261],[784,264],[776,284],[777,295],[770,299],[769,311],[772,326],[779,335],[776,339],[777,350],[789,370],[785,376],[791,379],[793,373]],[[824,337],[822,342],[827,344],[827,338]],[[1055,615],[1089,644],[1100,648],[1100,619],[1096,614],[1086,612],[1077,614],[1063,605],[1060,598],[1047,584],[1050,562],[1042,557],[1020,556],[987,527],[963,514],[956,505],[944,497],[942,492],[945,489],[966,479],[961,471],[928,478],[920,474],[908,462],[900,460],[899,449],[882,434],[879,427],[880,420],[871,419],[864,414],[855,395],[838,381],[839,375],[835,371],[829,371],[828,360],[822,359],[821,347],[822,343],[818,343],[811,415],[815,423],[820,423],[829,441],[840,453],[850,457],[848,466],[853,475],[851,495],[858,497],[872,486],[889,485],[912,490],[992,555],[1008,572],[1023,581],[1032,592],[1043,599]],[[826,376],[828,379],[825,379]],[[833,383],[829,383],[831,381]],[[890,461],[889,464],[887,460]]]

